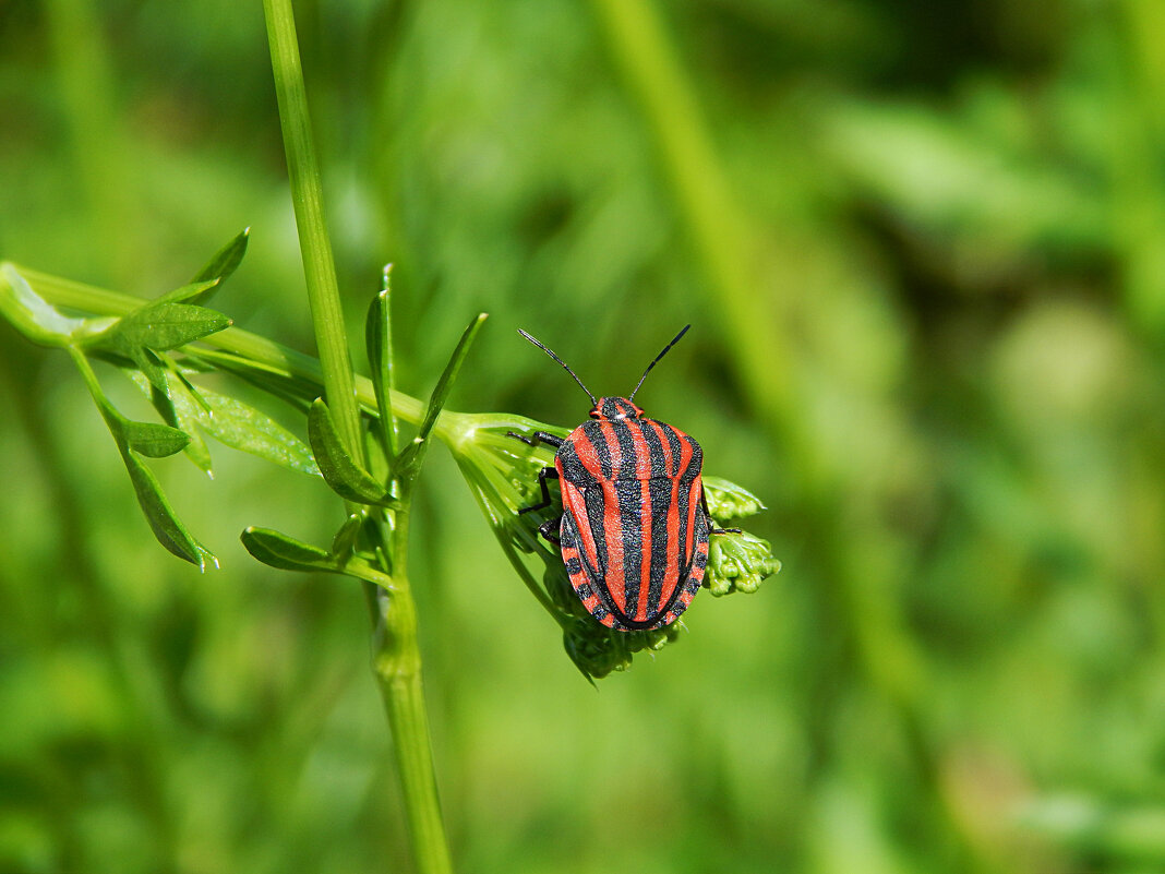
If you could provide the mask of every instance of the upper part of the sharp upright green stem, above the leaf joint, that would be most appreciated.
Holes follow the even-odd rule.
[[[366,461],[291,0],[263,0],[263,12],[324,392],[345,446],[353,458]]]

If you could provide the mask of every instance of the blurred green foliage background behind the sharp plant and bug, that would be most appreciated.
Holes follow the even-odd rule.
[[[452,406],[573,425],[515,327],[621,393],[692,322],[638,400],[785,563],[595,692],[435,452],[461,872],[1165,869],[1165,5],[297,14],[341,288],[359,330],[396,263],[402,387],[487,310]],[[0,258],[155,295],[249,225],[216,306],[312,350],[259,2],[0,2]],[[0,871],[410,871],[361,592],[238,543],[339,501],[154,464],[200,576],[66,357],[0,325]]]

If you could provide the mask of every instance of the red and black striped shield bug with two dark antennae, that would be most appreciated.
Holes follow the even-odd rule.
[[[700,468],[700,444],[664,422],[647,418],[635,392],[691,325],[684,327],[640,378],[627,397],[595,399],[570,367],[543,344],[518,331],[574,378],[591,402],[591,421],[564,439],[536,431],[531,446],[553,446],[555,466],[538,474],[542,501],[550,506],[548,479],[562,485],[563,515],[538,527],[562,549],[574,593],[595,619],[621,632],[663,628],[683,613],[704,582],[708,515]]]

